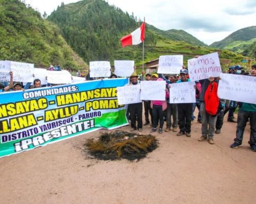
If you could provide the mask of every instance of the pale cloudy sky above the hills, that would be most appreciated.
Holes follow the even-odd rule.
[[[256,25],[256,0],[105,0],[161,30],[181,29],[210,45],[232,32]],[[41,13],[63,2],[77,0],[26,0]]]

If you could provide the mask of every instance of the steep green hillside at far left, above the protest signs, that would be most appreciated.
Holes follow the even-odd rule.
[[[18,0],[0,0],[0,60],[60,64],[67,69],[87,67],[60,35],[59,28]]]

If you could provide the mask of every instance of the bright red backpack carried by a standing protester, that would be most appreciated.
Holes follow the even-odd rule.
[[[205,111],[206,113],[216,116],[218,114],[219,98],[217,95],[218,84],[214,81],[210,83],[205,91]]]

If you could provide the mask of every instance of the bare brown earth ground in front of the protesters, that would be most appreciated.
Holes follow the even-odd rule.
[[[159,147],[139,162],[89,158],[83,145],[99,131],[0,158],[0,203],[255,203],[250,125],[231,149],[236,123],[226,121],[215,145],[197,141],[197,122],[191,138],[154,133]]]

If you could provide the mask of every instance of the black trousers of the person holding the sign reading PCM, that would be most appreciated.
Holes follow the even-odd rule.
[[[179,120],[179,129],[182,132],[191,132],[191,114],[193,104],[177,104],[178,107],[178,120]]]

